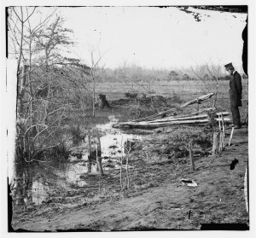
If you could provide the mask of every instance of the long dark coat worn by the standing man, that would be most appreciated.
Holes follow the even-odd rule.
[[[232,107],[241,107],[241,76],[237,72],[230,79],[230,104]]]

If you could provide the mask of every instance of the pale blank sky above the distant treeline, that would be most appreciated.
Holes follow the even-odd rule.
[[[141,67],[190,67],[211,59],[241,67],[241,32],[246,14],[192,9],[200,20],[175,7],[83,7],[59,12],[73,29],[74,50],[90,62],[89,49],[99,48],[105,67],[124,62]]]

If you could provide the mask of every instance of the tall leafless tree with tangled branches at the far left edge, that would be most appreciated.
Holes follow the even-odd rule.
[[[57,46],[65,48],[69,45],[65,34],[70,31],[61,32],[63,22],[59,18],[54,23],[50,23],[53,13],[43,20],[40,18],[38,22],[32,21],[32,17],[37,14],[35,9],[29,7],[10,8],[8,19],[9,54],[14,55],[18,61],[15,177],[18,187],[21,189],[18,191],[17,204],[23,203],[24,191],[22,191],[21,184],[24,168],[32,161],[47,160],[44,156],[45,152],[60,144],[61,136],[58,136],[58,133],[67,109],[65,98],[56,93],[56,91],[61,91],[61,75],[55,67],[55,63],[60,60],[61,55],[54,54],[54,49]],[[45,41],[44,49],[49,51],[45,60],[42,61],[41,40],[47,38],[46,32],[49,29],[56,29],[53,35],[59,36],[59,38],[53,37],[49,38],[49,41]],[[58,35],[60,32],[61,36]],[[51,63],[50,70],[49,61]],[[45,95],[43,92],[45,88],[48,89],[48,84],[51,82],[55,82],[55,86],[46,90],[47,94]],[[38,86],[42,86],[42,84],[46,84],[46,86],[38,93]]]

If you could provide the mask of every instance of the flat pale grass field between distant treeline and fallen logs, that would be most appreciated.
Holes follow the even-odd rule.
[[[230,81],[219,81],[218,100],[216,103],[216,107],[227,111],[230,111],[229,84]],[[197,96],[215,92],[215,84],[207,82],[207,87],[208,89],[206,88],[206,84],[201,81],[170,81],[151,84],[151,90],[154,91],[153,95],[165,96],[166,98],[179,96],[182,102],[188,102],[189,100],[195,99]],[[125,92],[130,90],[131,88],[129,88],[127,84],[102,83],[98,85],[96,92],[97,94],[105,94],[107,99],[111,102],[125,98]],[[241,119],[244,119],[245,113],[247,113],[248,102],[247,79],[242,79],[242,90]],[[142,88],[138,88],[138,91],[140,93],[145,92]],[[207,107],[208,105],[206,103],[202,103],[200,107]],[[195,105],[190,107],[195,107]]]

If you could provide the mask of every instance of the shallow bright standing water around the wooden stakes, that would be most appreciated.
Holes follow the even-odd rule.
[[[105,125],[96,125],[96,129],[100,131],[102,157],[106,159],[102,160],[102,166],[104,171],[116,170],[120,168],[119,160],[111,160],[111,158],[119,158],[125,156],[128,150],[129,143],[140,141],[142,136],[125,134],[119,129],[112,128],[113,123],[116,123],[114,117],[110,117],[110,123]],[[96,149],[96,141],[92,138],[92,149]],[[86,185],[86,181],[81,179],[81,175],[87,173],[87,161],[88,161],[88,139],[77,147],[71,149],[72,156],[69,158],[69,162],[61,165],[61,169],[54,168],[53,174],[58,178],[55,179],[55,185],[67,188],[68,184],[75,184],[76,186],[83,187]],[[125,165],[123,165],[125,168]],[[133,166],[130,166],[132,168]],[[92,165],[92,172],[96,172],[96,164]],[[40,204],[44,201],[48,193],[52,191],[52,188],[46,183],[35,181],[32,183],[32,201],[35,204]]]

